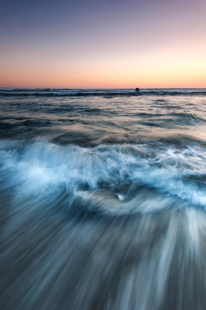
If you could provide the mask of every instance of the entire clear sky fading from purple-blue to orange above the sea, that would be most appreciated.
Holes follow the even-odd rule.
[[[206,88],[206,0],[0,0],[0,87]]]

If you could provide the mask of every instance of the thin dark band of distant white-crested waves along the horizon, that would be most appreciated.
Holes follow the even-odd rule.
[[[70,90],[70,89],[0,89],[0,96],[23,97],[136,97],[136,96],[206,96],[206,89]]]

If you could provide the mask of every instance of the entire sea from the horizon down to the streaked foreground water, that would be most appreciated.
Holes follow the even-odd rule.
[[[0,89],[0,309],[206,309],[206,89]]]

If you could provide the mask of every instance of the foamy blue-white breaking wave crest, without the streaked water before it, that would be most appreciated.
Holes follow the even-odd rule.
[[[205,210],[205,152],[189,142],[82,148],[1,141],[0,177],[21,197],[66,191],[68,208],[79,201],[85,210],[130,214],[182,201]]]

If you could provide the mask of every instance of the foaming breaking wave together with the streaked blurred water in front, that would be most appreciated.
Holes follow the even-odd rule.
[[[205,309],[205,152],[0,140],[0,309]]]

